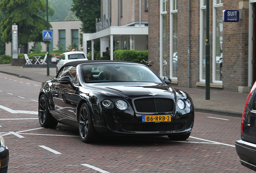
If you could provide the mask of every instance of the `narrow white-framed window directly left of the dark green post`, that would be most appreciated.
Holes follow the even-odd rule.
[[[205,82],[206,0],[200,2],[200,82]]]

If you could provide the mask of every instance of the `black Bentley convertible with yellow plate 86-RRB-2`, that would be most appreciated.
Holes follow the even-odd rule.
[[[167,135],[185,140],[194,123],[194,105],[143,64],[110,60],[68,62],[41,84],[39,122],[78,127],[83,142],[99,135]]]

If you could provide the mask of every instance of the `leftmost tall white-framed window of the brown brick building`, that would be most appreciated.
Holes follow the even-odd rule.
[[[160,76],[167,76],[167,0],[160,1]]]

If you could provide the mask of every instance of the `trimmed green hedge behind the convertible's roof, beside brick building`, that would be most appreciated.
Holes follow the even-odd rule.
[[[131,61],[140,63],[141,60],[148,61],[148,50],[116,50],[114,52],[115,60]]]

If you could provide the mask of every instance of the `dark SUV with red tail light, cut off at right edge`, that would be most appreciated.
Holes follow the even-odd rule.
[[[244,106],[241,139],[235,141],[235,149],[240,162],[245,167],[256,171],[256,82]]]

